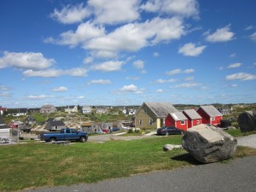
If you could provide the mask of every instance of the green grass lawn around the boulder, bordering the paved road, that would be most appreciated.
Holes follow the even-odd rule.
[[[166,143],[180,144],[181,136],[67,146],[51,143],[1,146],[0,191],[96,183],[198,164],[183,149],[164,152]],[[256,150],[237,148],[234,157],[248,154],[255,155]]]

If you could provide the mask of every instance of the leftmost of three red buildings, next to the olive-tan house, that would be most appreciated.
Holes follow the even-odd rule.
[[[188,119],[182,112],[168,113],[165,119],[166,126],[175,126],[183,131],[188,130]]]

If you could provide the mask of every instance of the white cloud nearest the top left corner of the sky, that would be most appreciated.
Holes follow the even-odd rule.
[[[72,24],[81,22],[85,17],[90,15],[90,11],[81,3],[76,6],[67,5],[61,10],[54,10],[50,15],[51,18],[58,20],[63,24]]]

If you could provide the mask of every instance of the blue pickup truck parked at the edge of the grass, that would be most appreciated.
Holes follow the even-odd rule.
[[[40,135],[41,141],[53,143],[55,141],[80,141],[86,142],[88,135],[86,132],[80,132],[72,128],[63,128],[61,132],[49,132]]]

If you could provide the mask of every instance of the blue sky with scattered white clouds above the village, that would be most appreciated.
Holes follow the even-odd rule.
[[[3,0],[0,105],[256,102],[256,1]]]

